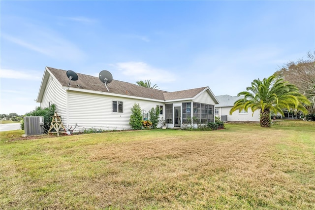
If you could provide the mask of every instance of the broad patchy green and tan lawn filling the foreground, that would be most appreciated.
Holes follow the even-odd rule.
[[[315,209],[315,122],[19,138],[0,209]]]

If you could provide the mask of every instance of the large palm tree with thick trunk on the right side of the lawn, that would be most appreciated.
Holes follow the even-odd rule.
[[[260,110],[260,127],[270,127],[270,112],[281,113],[284,116],[283,109],[302,111],[307,113],[304,104],[309,105],[309,100],[299,92],[299,89],[284,81],[282,78],[270,76],[262,81],[255,79],[252,86],[246,88],[247,91],[240,92],[238,96],[244,96],[234,103],[230,110],[232,114],[236,110],[252,109]]]

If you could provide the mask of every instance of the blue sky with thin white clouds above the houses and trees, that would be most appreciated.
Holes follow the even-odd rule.
[[[235,96],[315,50],[315,1],[1,0],[0,18],[6,114],[39,106],[46,66]]]

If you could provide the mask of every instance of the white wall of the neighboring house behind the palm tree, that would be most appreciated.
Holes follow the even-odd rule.
[[[256,110],[252,116],[252,110],[248,110],[248,113],[239,113],[239,111],[234,111],[232,115],[229,114],[232,107],[215,107],[219,108],[219,114],[215,116],[227,115],[227,121],[253,121],[259,122],[260,114],[259,110]]]

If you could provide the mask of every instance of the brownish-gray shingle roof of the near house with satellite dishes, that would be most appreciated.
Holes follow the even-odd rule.
[[[66,70],[60,70],[51,67],[46,68],[56,77],[56,79],[61,83],[62,86],[68,86],[69,79],[66,76]],[[81,73],[77,73],[77,75],[79,77],[78,80],[70,82],[71,88],[107,92],[104,83],[102,83],[98,77]],[[113,79],[111,83],[107,84],[107,87],[110,93],[163,101],[193,98],[201,91],[203,91],[205,88],[207,88],[201,87],[176,92],[167,92],[152,88],[141,87],[136,84],[131,84],[128,82],[123,82],[115,79]]]

